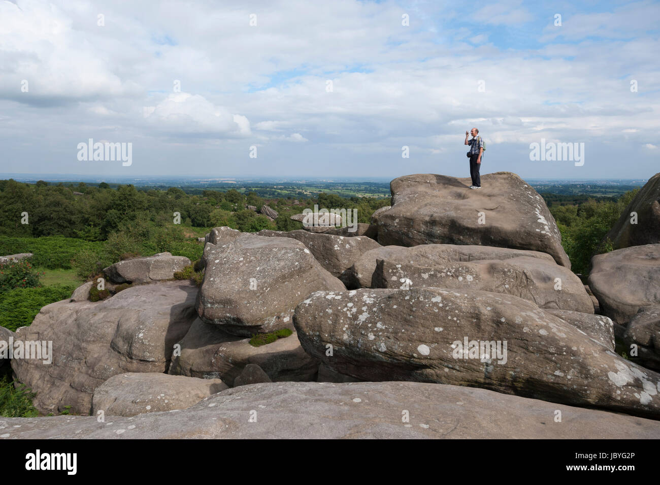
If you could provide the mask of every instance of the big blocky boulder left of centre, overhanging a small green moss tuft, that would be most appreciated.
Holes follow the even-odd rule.
[[[292,329],[293,311],[308,294],[342,289],[302,242],[246,233],[209,251],[197,313],[228,333],[249,337]]]

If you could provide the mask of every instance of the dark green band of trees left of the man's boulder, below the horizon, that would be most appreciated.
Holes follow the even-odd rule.
[[[76,193],[79,193],[77,195]],[[251,205],[260,209],[267,204],[280,216],[274,222],[246,209]],[[180,225],[195,228],[229,226],[255,232],[261,229],[292,230],[300,223],[288,217],[315,203],[321,207],[358,209],[360,222],[369,222],[374,210],[389,204],[388,199],[343,199],[319,194],[317,199],[291,199],[265,201],[254,192],[240,193],[204,190],[200,195],[189,195],[182,189],[139,190],[133,185],[110,187],[79,183],[68,187],[49,185],[45,181],[35,184],[20,183],[13,179],[0,181],[0,236],[65,236],[86,241],[105,241],[121,226],[140,218],[149,219],[158,227],[172,226],[174,212],[180,215]],[[23,224],[22,222],[28,222]]]

